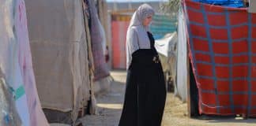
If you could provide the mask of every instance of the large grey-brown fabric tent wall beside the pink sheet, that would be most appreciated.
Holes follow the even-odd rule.
[[[38,92],[43,108],[78,112],[92,97],[92,63],[81,0],[25,0]],[[93,92],[91,92],[93,93]],[[62,122],[65,120],[58,120]]]

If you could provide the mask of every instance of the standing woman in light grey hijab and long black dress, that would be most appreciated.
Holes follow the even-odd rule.
[[[155,40],[149,32],[154,10],[141,5],[126,36],[126,94],[119,126],[160,126],[166,89]]]

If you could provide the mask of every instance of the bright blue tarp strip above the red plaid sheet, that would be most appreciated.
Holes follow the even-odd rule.
[[[243,7],[243,0],[193,0],[194,2],[202,2],[218,6],[229,6],[240,8]]]

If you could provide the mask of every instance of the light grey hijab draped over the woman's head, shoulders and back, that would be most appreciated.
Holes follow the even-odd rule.
[[[126,35],[126,69],[129,68],[132,61],[132,54],[139,49],[150,49],[150,41],[147,31],[149,26],[143,25],[146,17],[153,16],[154,9],[148,4],[138,7],[130,20],[130,25]]]

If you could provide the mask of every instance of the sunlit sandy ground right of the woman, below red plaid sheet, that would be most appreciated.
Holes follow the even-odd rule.
[[[187,117],[187,105],[169,93],[162,126],[256,126],[255,119],[242,120],[235,117],[201,116],[198,119]]]

